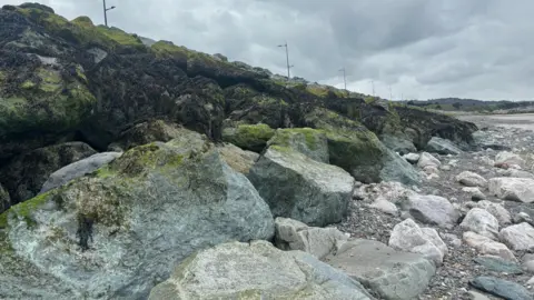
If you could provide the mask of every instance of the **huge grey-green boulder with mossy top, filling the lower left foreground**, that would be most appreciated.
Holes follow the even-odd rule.
[[[197,250],[273,238],[274,219],[205,136],[184,130],[12,207],[0,228],[2,297],[146,299]]]

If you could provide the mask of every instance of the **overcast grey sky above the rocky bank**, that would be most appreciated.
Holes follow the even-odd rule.
[[[26,1],[0,0],[0,4]],[[103,23],[101,0],[41,0]],[[107,0],[109,26],[393,99],[534,99],[533,0]]]

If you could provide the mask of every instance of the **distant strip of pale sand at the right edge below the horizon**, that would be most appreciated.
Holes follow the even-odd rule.
[[[463,114],[459,120],[471,121],[479,127],[497,126],[504,128],[521,128],[534,131],[534,113],[518,114]]]

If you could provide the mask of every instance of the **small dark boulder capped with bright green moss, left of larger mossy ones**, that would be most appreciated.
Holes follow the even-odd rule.
[[[225,128],[222,140],[245,150],[261,152],[274,134],[275,130],[267,124],[239,124],[237,128]]]

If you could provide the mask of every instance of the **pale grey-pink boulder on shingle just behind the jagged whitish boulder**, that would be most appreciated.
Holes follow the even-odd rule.
[[[454,227],[461,217],[446,198],[438,196],[412,194],[399,204],[402,210],[408,211],[417,221],[442,228]]]

